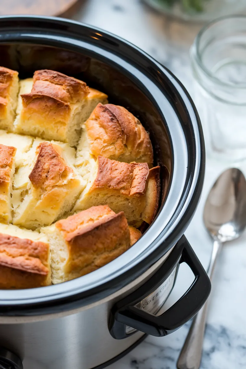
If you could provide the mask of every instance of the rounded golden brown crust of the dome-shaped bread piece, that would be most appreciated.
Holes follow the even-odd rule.
[[[127,109],[98,104],[86,121],[91,154],[123,162],[153,162],[148,133]]]

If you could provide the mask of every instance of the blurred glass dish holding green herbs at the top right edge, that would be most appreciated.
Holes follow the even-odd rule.
[[[162,13],[186,21],[211,21],[215,18],[246,12],[245,0],[145,0]]]

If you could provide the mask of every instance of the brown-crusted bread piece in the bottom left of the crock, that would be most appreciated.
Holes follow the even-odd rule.
[[[50,251],[46,236],[12,224],[0,224],[0,289],[50,284]]]

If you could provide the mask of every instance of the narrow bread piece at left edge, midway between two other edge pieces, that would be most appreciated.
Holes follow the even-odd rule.
[[[12,220],[11,190],[15,170],[16,148],[0,144],[0,223]]]

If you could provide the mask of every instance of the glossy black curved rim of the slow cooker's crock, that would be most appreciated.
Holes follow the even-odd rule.
[[[90,44],[88,49],[90,38],[93,38],[93,44]],[[94,40],[98,41],[95,42]],[[172,199],[174,199],[174,182],[176,182],[174,180],[177,173],[172,173],[173,179],[169,194],[155,221],[142,238],[125,254],[96,272],[69,282],[28,290],[1,290],[0,293],[0,315],[40,315],[72,310],[101,300],[141,276],[184,233],[200,200],[204,180],[205,146],[201,122],[186,89],[167,68],[128,41],[99,28],[56,17],[6,16],[0,17],[0,43],[56,46],[85,52],[85,54],[104,61],[105,55],[106,58],[111,55],[114,60],[108,59],[107,63],[111,63],[115,68],[118,68],[117,63],[121,62],[121,71],[123,68],[124,73],[128,73],[128,76],[130,74],[132,78],[135,77],[134,71],[143,75],[141,69],[143,66],[147,70],[154,68],[158,73],[158,80],[153,81],[149,77],[148,83],[153,82],[153,86],[160,83],[163,86],[165,83],[170,85],[173,99],[175,97],[175,103],[180,104],[183,117],[186,118],[186,121],[180,121],[182,127],[177,126],[176,129],[181,130],[180,134],[183,137],[181,143],[186,144],[187,170],[181,178],[184,181],[183,191],[180,194],[179,202],[174,205],[174,211],[171,215],[168,212],[165,213],[165,210],[168,209],[168,204],[170,206],[171,193]],[[129,60],[129,56],[138,60],[141,58],[141,68],[139,66],[136,68],[133,61]],[[126,65],[129,69],[126,69]],[[143,82],[143,79],[141,81]],[[148,90],[145,89],[146,94],[150,93],[149,89],[150,86],[148,86]],[[164,99],[163,96],[162,98]],[[166,103],[168,103],[167,99]],[[160,105],[158,107],[160,110]],[[164,121],[164,113],[162,116]],[[167,131],[171,139],[172,132],[170,132],[170,128],[168,127]],[[171,141],[174,158],[177,157],[178,152],[183,156],[185,148],[178,147],[179,145],[176,145],[176,147],[175,145],[175,142]],[[183,159],[180,155],[178,157],[182,162]],[[185,161],[183,164],[185,164]],[[176,164],[174,161],[174,169],[184,171],[185,168],[177,168],[177,166],[178,161],[176,161]],[[177,186],[177,183],[175,185]],[[170,219],[166,221],[166,225],[161,226],[160,224],[165,223],[166,214],[170,215]],[[143,246],[141,247],[141,245]],[[140,247],[141,252],[139,252]],[[132,258],[132,255],[135,255],[135,257]],[[121,267],[119,268],[119,266]],[[100,274],[104,274],[104,277],[99,279]],[[89,282],[83,284],[86,280],[89,280]]]

